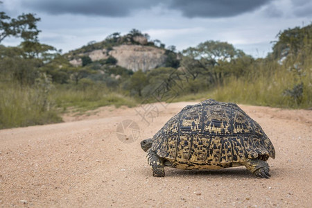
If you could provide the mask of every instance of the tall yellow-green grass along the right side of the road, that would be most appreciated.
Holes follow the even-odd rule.
[[[236,78],[229,76],[223,84],[216,85],[197,94],[182,94],[173,102],[203,101],[213,98],[217,101],[246,105],[302,108],[312,107],[312,58],[306,58],[296,71],[294,63],[262,63],[253,66],[247,74]],[[302,92],[295,89],[302,83]],[[286,94],[286,91],[291,93]]]

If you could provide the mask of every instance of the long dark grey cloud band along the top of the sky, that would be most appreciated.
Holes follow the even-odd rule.
[[[140,9],[161,5],[182,12],[185,17],[232,17],[256,10],[272,0],[31,0],[22,5],[51,14],[126,17]]]

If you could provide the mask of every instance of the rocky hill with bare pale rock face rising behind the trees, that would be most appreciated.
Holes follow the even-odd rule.
[[[84,60],[103,63],[103,60],[114,58],[116,62],[113,64],[125,69],[148,71],[166,66],[168,50],[164,49],[164,44],[158,40],[156,43],[159,46],[153,41],[148,42],[148,35],[139,31],[131,31],[124,36],[113,33],[103,42],[91,42],[65,55],[75,67],[85,66]]]

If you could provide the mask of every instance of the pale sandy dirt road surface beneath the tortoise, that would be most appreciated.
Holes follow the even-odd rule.
[[[153,177],[139,142],[189,104],[149,105],[150,114],[102,107],[65,123],[0,130],[0,207],[311,207],[308,110],[240,105],[275,146],[268,180],[245,167],[166,168]],[[135,122],[122,132],[126,120]]]

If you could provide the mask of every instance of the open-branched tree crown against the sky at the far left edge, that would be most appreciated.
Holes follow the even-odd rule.
[[[0,42],[6,37],[21,37],[25,41],[37,40],[40,31],[37,29],[37,21],[35,15],[22,14],[15,18],[6,15],[6,12],[0,12]]]

